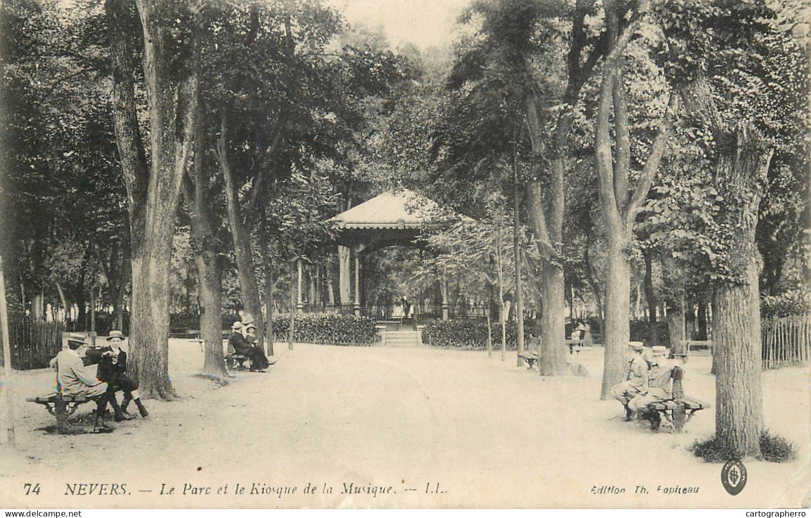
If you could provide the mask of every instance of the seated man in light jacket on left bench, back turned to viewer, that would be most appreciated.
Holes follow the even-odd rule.
[[[51,360],[51,366],[57,370],[58,392],[62,396],[88,396],[96,400],[96,418],[93,421],[93,431],[99,431],[99,419],[107,409],[109,392],[107,383],[97,379],[92,368],[84,365],[82,357],[87,351],[88,343],[84,336],[71,335],[67,339],[68,349],[62,349]]]

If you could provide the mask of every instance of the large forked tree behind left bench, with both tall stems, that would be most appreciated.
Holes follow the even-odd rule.
[[[132,253],[132,374],[145,397],[174,399],[169,381],[169,262],[175,214],[191,151],[197,76],[183,41],[194,12],[185,2],[135,2],[143,41],[151,163],[135,107],[131,2],[108,0],[113,112],[127,186]],[[180,17],[186,19],[184,22]]]

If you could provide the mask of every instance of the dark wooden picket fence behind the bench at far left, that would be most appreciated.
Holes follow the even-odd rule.
[[[24,315],[9,315],[8,334],[11,367],[18,370],[41,369],[62,350],[65,323],[45,322]]]

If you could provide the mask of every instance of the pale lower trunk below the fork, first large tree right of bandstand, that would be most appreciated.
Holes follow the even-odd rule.
[[[543,311],[540,318],[542,353],[538,370],[542,376],[562,375],[567,367],[563,269],[545,259],[541,259],[539,267],[538,288],[543,300]]]

